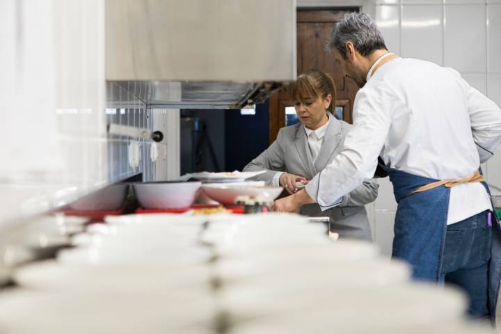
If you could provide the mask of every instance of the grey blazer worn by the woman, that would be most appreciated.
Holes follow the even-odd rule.
[[[270,147],[244,168],[244,171],[263,170],[254,180],[264,180],[271,184],[273,176],[285,170],[287,173],[312,180],[333,158],[343,150],[344,138],[352,125],[331,117],[317,160],[313,162],[308,137],[301,123],[283,127]],[[342,198],[339,206],[321,211],[319,205],[308,204],[301,207],[306,216],[330,216],[331,230],[340,237],[372,240],[372,234],[364,205],[377,197],[379,185],[375,180],[363,182],[355,190]]]

